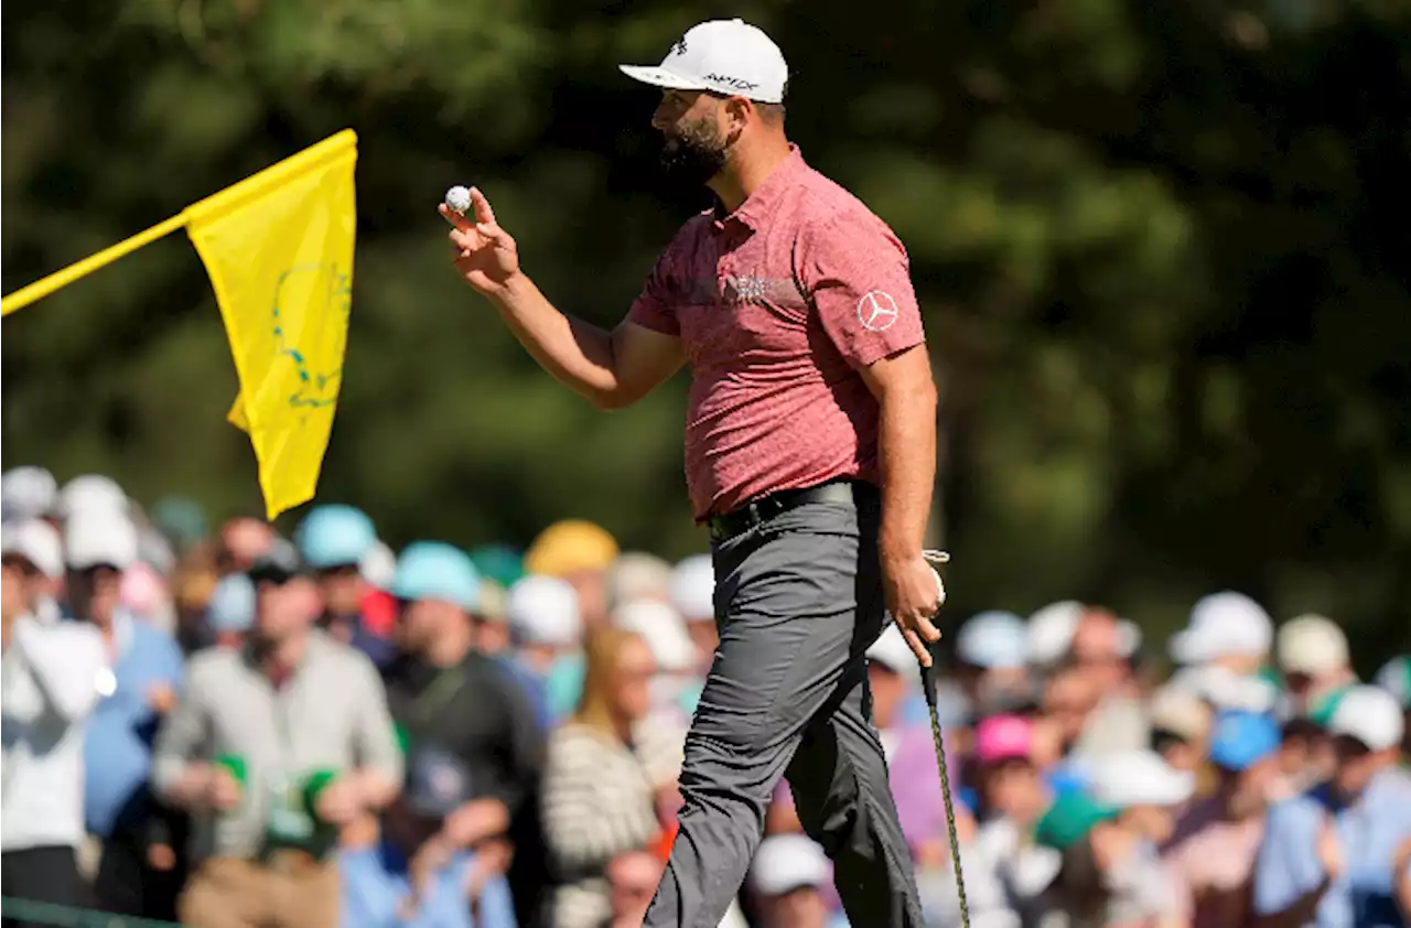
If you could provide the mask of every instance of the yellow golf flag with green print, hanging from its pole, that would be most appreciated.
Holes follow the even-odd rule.
[[[189,207],[220,303],[274,519],[313,498],[343,381],[353,293],[357,135],[344,130]]]

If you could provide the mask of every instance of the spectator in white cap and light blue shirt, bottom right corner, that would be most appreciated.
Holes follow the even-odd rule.
[[[1397,770],[1401,707],[1386,690],[1352,687],[1328,724],[1332,779],[1270,811],[1254,870],[1254,924],[1400,928],[1411,780]]]

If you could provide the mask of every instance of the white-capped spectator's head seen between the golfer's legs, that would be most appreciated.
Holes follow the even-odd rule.
[[[749,889],[759,911],[758,928],[828,928],[847,925],[828,914],[823,889],[828,857],[803,835],[765,838],[749,866]]]

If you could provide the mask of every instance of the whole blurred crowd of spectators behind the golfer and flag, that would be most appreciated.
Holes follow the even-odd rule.
[[[564,520],[519,553],[316,505],[209,530],[0,475],[0,927],[628,928],[717,642],[708,554]],[[1411,659],[1215,592],[1163,647],[1094,604],[955,623],[940,705],[975,928],[1404,927]],[[1156,674],[1156,652],[1175,666]],[[930,925],[961,924],[921,678],[871,704]],[[1165,661],[1160,661],[1165,663]],[[780,783],[722,927],[844,928]],[[868,928],[854,912],[851,928]]]

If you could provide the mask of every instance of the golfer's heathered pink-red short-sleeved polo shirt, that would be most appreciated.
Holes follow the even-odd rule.
[[[797,148],[738,210],[682,227],[628,319],[686,347],[697,519],[838,477],[876,482],[878,403],[859,370],[926,340],[896,234]]]

